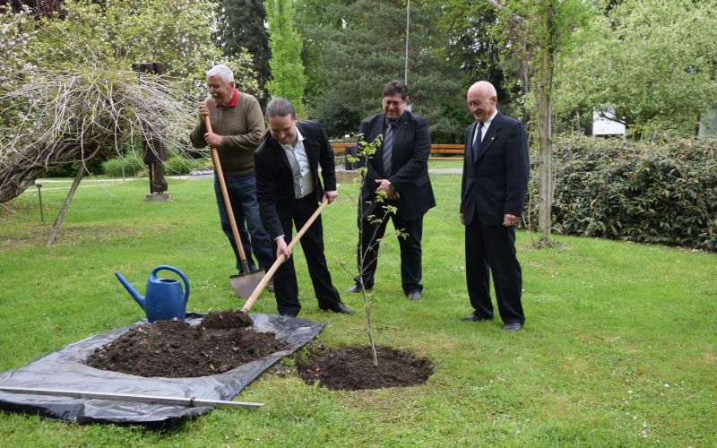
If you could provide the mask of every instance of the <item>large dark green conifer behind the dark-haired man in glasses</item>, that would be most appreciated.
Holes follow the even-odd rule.
[[[329,134],[355,133],[361,117],[381,108],[385,82],[403,79],[406,11],[401,1],[343,1],[323,7],[303,0],[299,8],[312,82],[308,105]],[[318,12],[307,13],[317,10]],[[413,111],[428,117],[434,142],[462,141],[465,120],[459,67],[447,59],[436,25],[439,10],[412,1],[408,56]],[[456,140],[458,139],[458,140]]]

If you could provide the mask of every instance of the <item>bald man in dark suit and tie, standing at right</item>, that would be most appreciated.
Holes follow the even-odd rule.
[[[468,90],[476,123],[465,134],[460,219],[465,226],[465,274],[473,313],[464,321],[493,318],[492,273],[503,329],[523,328],[523,277],[515,256],[515,226],[523,214],[530,159],[521,122],[497,111],[496,88],[476,82]]]

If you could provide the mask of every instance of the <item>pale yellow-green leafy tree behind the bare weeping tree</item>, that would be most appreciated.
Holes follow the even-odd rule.
[[[223,57],[205,18],[209,0],[66,0],[62,13],[39,20],[30,62],[43,67],[95,64],[128,70],[136,62],[160,62],[168,75],[186,81],[194,96],[205,93],[204,72],[226,63],[238,85],[256,93],[250,55]]]

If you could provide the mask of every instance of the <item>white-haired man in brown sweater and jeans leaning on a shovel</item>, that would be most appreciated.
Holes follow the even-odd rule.
[[[195,148],[202,148],[207,144],[217,148],[249,269],[256,269],[252,258],[254,254],[259,267],[268,271],[274,260],[272,241],[259,216],[254,175],[254,150],[264,131],[262,109],[252,95],[240,92],[234,87],[234,73],[226,65],[215,65],[207,72],[207,88],[210,97],[199,104],[199,119],[190,139]],[[210,117],[212,133],[207,132],[204,125],[205,116]],[[219,207],[221,229],[229,238],[237,258],[237,269],[241,273],[237,242],[231,232],[229,214],[216,173],[214,193]]]

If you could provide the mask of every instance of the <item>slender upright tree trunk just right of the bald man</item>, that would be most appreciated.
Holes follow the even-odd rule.
[[[553,132],[552,105],[550,94],[553,83],[553,53],[550,45],[553,35],[553,10],[549,8],[545,13],[548,39],[540,46],[540,73],[538,82],[538,140],[540,142],[540,187],[538,207],[538,227],[540,239],[547,243],[550,238],[553,209]]]

